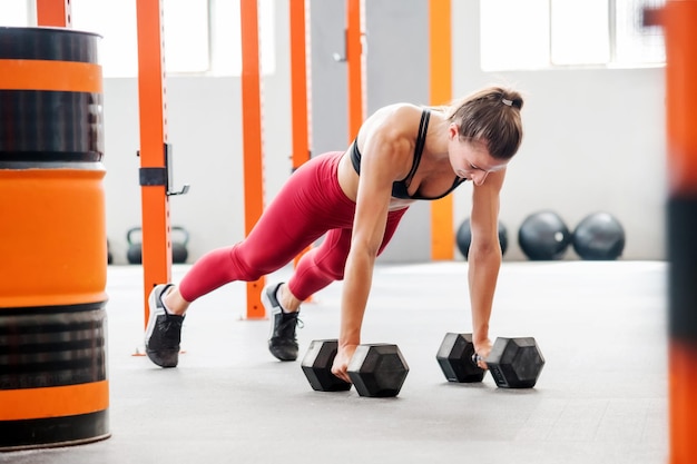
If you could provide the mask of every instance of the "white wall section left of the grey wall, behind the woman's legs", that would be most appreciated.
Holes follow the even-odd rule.
[[[275,196],[292,168],[285,2],[278,2],[276,11],[277,73],[265,76],[262,85],[266,200]],[[175,188],[192,185],[187,195],[169,197],[169,209],[171,225],[189,231],[188,261],[244,238],[240,86],[237,77],[167,78]],[[115,264],[126,264],[126,233],[141,224],[138,82],[105,79],[104,87],[107,236]]]

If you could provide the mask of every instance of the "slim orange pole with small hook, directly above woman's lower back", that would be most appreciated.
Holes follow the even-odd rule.
[[[363,47],[361,0],[346,0],[346,65],[348,70],[348,144],[363,124]]]

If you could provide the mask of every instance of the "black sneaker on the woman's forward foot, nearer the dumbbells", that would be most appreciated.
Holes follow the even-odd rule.
[[[281,361],[295,361],[297,359],[295,326],[302,322],[297,318],[300,310],[284,313],[281,308],[281,304],[276,299],[276,292],[282,284],[269,284],[262,290],[262,304],[268,312],[272,324],[268,351]]]

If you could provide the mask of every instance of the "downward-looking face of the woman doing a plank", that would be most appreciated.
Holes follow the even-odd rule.
[[[507,160],[494,159],[482,142],[461,140],[453,122],[448,131],[448,154],[455,175],[482,185],[490,172],[505,169]]]

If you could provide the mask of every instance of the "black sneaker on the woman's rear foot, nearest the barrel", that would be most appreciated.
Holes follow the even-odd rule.
[[[145,352],[150,361],[160,367],[177,367],[181,323],[184,323],[184,316],[176,316],[165,310],[163,295],[169,287],[173,285],[157,285],[148,297],[150,317],[145,329]]]

